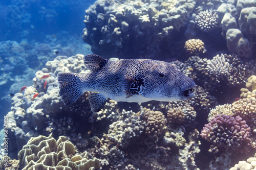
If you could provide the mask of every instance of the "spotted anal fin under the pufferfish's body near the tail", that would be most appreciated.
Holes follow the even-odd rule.
[[[100,93],[90,92],[88,100],[91,105],[92,111],[95,113],[100,111],[104,107],[106,100],[108,100],[108,98],[105,98],[105,96]]]

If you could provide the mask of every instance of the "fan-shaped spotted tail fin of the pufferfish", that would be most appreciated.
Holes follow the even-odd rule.
[[[57,75],[59,83],[59,95],[65,106],[71,105],[80,95],[82,90],[82,75],[65,72]]]

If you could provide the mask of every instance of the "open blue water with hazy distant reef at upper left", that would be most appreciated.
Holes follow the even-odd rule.
[[[10,111],[9,94],[33,85],[35,72],[56,57],[54,50],[66,56],[84,52],[83,19],[93,2],[0,1],[0,127]]]

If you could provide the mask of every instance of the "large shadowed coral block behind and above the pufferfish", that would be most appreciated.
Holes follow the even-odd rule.
[[[174,43],[170,41],[172,33],[188,23],[187,16],[195,4],[194,1],[174,0],[99,0],[86,10],[83,40],[99,55],[154,57],[164,51],[162,43],[167,46]],[[113,50],[107,50],[110,48]]]

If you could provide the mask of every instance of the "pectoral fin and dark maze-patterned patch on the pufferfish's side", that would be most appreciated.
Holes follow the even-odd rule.
[[[123,92],[126,94],[126,99],[134,94],[141,94],[144,91],[144,80],[140,77],[134,79],[130,76],[124,75]]]

